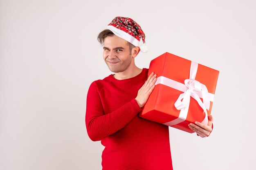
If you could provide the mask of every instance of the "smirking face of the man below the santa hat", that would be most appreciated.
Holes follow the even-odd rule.
[[[111,72],[124,72],[132,62],[130,48],[126,40],[116,35],[104,39],[103,59]]]

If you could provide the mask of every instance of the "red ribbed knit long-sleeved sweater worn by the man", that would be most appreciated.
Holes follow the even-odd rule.
[[[85,123],[90,139],[101,140],[103,170],[172,170],[168,126],[138,116],[135,97],[147,79],[112,75],[88,90]]]

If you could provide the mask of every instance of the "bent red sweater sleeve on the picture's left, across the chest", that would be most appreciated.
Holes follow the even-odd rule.
[[[121,106],[112,113],[104,114],[101,98],[95,83],[89,87],[86,102],[85,124],[92,141],[99,141],[119,131],[141,111],[137,101]]]

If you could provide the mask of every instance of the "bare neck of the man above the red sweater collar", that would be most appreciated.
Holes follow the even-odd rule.
[[[124,72],[118,72],[114,74],[114,77],[117,80],[124,80],[127,78],[132,78],[137,76],[139,73],[141,73],[142,69],[138,68],[136,65],[134,67],[126,69]]]

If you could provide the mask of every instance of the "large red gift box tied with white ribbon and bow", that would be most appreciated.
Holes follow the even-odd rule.
[[[219,71],[168,52],[150,62],[155,89],[139,116],[193,133],[188,124],[208,123]],[[148,75],[149,76],[149,75]]]

